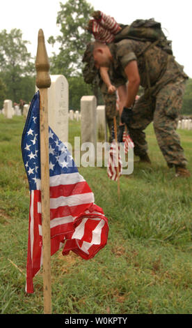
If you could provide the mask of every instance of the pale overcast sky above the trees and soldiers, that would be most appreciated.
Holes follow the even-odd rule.
[[[28,47],[33,56],[36,54],[38,30],[42,29],[45,40],[49,36],[57,36],[57,13],[60,10],[60,0],[5,0],[1,3],[0,31],[6,29],[21,29],[23,39],[29,40]],[[173,52],[185,72],[192,77],[191,64],[191,1],[190,0],[87,0],[95,10],[102,10],[111,15],[117,22],[130,24],[138,18],[154,18],[165,28],[168,40],[173,41]],[[88,17],[88,19],[91,17]],[[55,51],[46,43],[48,56]]]

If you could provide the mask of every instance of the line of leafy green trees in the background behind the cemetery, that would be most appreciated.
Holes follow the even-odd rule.
[[[93,40],[86,27],[94,8],[86,0],[68,0],[60,3],[56,24],[61,34],[49,36],[48,43],[59,45],[59,52],[52,53],[50,74],[65,75],[69,83],[69,107],[79,110],[80,99],[84,95],[97,94],[98,104],[102,104],[99,88],[86,84],[82,75],[82,57],[86,44]],[[29,41],[22,39],[20,29],[0,31],[0,109],[3,100],[11,99],[19,103],[22,99],[29,103],[35,93],[35,58],[27,50]],[[182,114],[192,114],[192,79],[186,84]]]

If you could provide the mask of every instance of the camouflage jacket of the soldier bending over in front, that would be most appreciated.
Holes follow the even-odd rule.
[[[141,86],[145,91],[157,94],[159,89],[176,77],[184,79],[188,76],[183,71],[175,58],[150,42],[138,40],[121,40],[118,43],[109,44],[113,56],[113,80],[120,77],[126,78],[125,67],[130,61],[136,60],[138,72],[141,78]]]

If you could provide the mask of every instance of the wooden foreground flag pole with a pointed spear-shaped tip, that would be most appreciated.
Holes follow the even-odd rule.
[[[38,33],[38,50],[35,60],[36,85],[40,91],[40,172],[42,209],[42,259],[44,313],[51,314],[51,239],[49,197],[49,124],[47,88],[51,85],[49,59],[42,29]]]

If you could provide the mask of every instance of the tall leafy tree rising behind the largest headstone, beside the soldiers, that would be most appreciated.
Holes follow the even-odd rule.
[[[61,35],[48,40],[52,45],[59,43],[59,53],[50,59],[50,72],[65,77],[81,75],[83,52],[92,38],[85,27],[94,9],[86,0],[68,0],[60,6],[56,23],[61,27]]]

